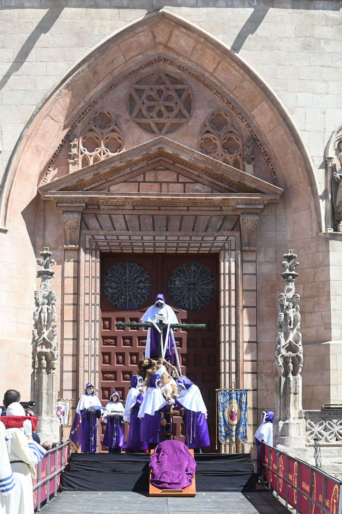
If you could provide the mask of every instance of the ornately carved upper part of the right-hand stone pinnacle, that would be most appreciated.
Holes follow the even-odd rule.
[[[275,364],[280,376],[296,376],[303,365],[300,330],[299,295],[295,293],[294,281],[298,276],[295,269],[298,262],[292,250],[284,255],[286,261],[281,266],[286,271],[281,273],[285,281],[284,292],[279,295],[279,314],[277,316],[278,335],[276,343]]]

